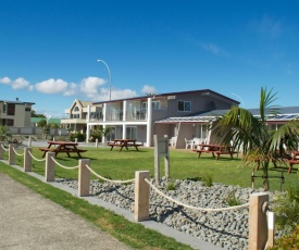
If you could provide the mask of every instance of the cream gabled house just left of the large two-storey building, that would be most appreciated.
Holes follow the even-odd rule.
[[[88,107],[91,104],[91,101],[75,100],[71,108],[64,111],[68,115],[68,118],[61,120],[63,127],[68,128],[70,132],[86,133]],[[97,112],[97,107],[91,107],[90,118],[96,118],[96,115],[100,115],[100,112]]]

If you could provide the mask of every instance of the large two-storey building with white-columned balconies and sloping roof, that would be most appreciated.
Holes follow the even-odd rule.
[[[228,110],[232,105],[237,104],[239,104],[238,101],[210,89],[94,102],[87,108],[89,114],[86,116],[89,117],[86,124],[87,138],[96,125],[102,125],[104,128],[111,127],[109,138],[103,139],[136,139],[145,146],[151,147],[153,146],[153,135],[167,135],[169,138],[179,135],[184,137],[185,135],[180,123],[161,124],[158,121],[169,117],[187,117],[199,112],[220,109]],[[78,103],[75,102],[73,108],[77,105]],[[84,124],[84,120],[82,124]],[[200,127],[194,127],[191,133],[190,136],[196,136],[203,132],[200,130]],[[182,146],[178,142],[177,147],[183,148],[185,145],[183,146],[182,141]]]

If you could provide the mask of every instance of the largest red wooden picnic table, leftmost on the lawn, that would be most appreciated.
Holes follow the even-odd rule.
[[[43,151],[42,158],[45,158],[47,152],[54,152],[55,155],[59,153],[66,153],[70,158],[70,153],[77,153],[78,158],[82,158],[80,153],[86,152],[85,149],[78,149],[77,142],[72,141],[48,141],[48,148],[39,148],[40,151]]]

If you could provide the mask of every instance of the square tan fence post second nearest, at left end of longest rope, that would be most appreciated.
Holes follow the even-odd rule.
[[[137,171],[135,173],[135,214],[137,222],[149,218],[149,195],[150,187],[145,178],[150,179],[149,171]]]

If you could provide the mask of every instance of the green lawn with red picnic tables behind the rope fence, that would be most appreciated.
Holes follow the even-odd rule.
[[[153,149],[140,148],[139,151],[134,149],[110,151],[110,148],[86,148],[88,151],[83,153],[84,158],[90,159],[91,168],[99,175],[111,179],[132,179],[136,171],[150,171],[151,176],[154,175],[153,167]],[[38,148],[33,148],[33,154],[40,159],[41,152]],[[75,154],[73,154],[75,155]],[[8,159],[8,154],[4,154]],[[164,160],[161,160],[161,176],[164,176]],[[67,158],[66,154],[58,155],[57,161],[66,166],[75,166],[78,164],[78,158]],[[23,157],[16,155],[16,164],[23,165]],[[222,155],[220,160],[215,160],[211,154],[202,153],[198,159],[198,154],[190,150],[170,150],[170,174],[172,178],[201,178],[204,175],[212,175],[214,183],[227,185],[239,185],[241,187],[251,187],[252,166],[245,166],[239,158],[231,160],[229,155]],[[289,185],[295,185],[298,179],[297,166],[295,165],[291,174],[287,174],[288,166],[273,168],[269,171],[270,190],[281,189],[281,171],[284,171],[285,184],[283,189],[286,190]],[[38,162],[33,160],[33,171],[43,175],[45,161]],[[257,176],[262,175],[262,171],[256,172]],[[64,170],[55,166],[55,176],[59,178],[77,178],[77,170]],[[92,176],[95,178],[95,176]],[[256,188],[262,187],[262,178],[256,178]]]

